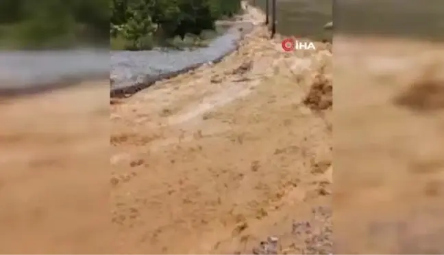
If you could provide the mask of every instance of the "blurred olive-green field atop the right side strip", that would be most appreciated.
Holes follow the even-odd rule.
[[[338,0],[334,3],[337,33],[444,40],[442,0]]]

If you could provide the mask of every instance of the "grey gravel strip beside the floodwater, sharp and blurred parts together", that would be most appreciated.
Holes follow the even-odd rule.
[[[110,79],[112,95],[132,94],[160,79],[220,61],[253,27],[236,23],[208,47],[193,51],[0,51],[0,95],[45,92],[93,79]]]

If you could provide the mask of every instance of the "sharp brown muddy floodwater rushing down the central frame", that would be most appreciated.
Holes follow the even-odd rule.
[[[221,63],[112,100],[119,254],[331,251],[330,46],[280,40],[258,26]]]

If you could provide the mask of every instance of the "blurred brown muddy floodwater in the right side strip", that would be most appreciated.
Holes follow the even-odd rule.
[[[338,254],[443,254],[443,50],[335,38]]]

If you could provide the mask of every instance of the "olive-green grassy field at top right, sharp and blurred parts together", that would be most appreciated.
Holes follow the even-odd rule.
[[[250,1],[264,10],[267,0]],[[332,40],[333,32],[323,29],[329,21],[335,34],[442,41],[444,1],[277,0],[278,33]]]

